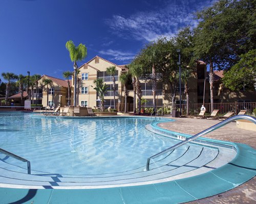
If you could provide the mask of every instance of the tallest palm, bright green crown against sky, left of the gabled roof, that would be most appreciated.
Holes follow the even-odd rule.
[[[86,45],[83,45],[80,43],[78,46],[75,46],[74,42],[72,40],[68,41],[66,43],[66,48],[69,50],[70,59],[72,62],[74,62],[74,106],[76,106],[76,71],[77,71],[77,61],[82,61],[87,56],[87,48]]]

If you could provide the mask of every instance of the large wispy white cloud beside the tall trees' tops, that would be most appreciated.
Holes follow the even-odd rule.
[[[120,37],[153,41],[160,36],[174,36],[180,28],[187,25],[195,28],[198,21],[194,13],[214,2],[216,0],[199,3],[194,0],[178,1],[178,3],[169,1],[164,8],[137,12],[128,17],[114,15],[112,19],[106,19],[105,22]]]

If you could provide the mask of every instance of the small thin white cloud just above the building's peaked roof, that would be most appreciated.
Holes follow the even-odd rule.
[[[135,54],[130,52],[122,52],[120,50],[108,49],[108,50],[100,50],[100,54],[113,56],[110,60],[119,60],[119,61],[129,61],[132,60]]]

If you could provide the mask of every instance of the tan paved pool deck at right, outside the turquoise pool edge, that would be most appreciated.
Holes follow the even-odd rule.
[[[195,135],[208,127],[219,123],[219,120],[193,119],[193,118],[173,118],[175,122],[167,122],[158,124],[160,127]],[[256,131],[247,131],[236,126],[236,122],[231,122],[220,129],[207,134],[205,137],[225,140],[231,142],[245,143],[256,148]],[[189,202],[189,203],[256,203],[256,177],[245,184],[234,188],[225,193],[211,196],[205,199]]]

